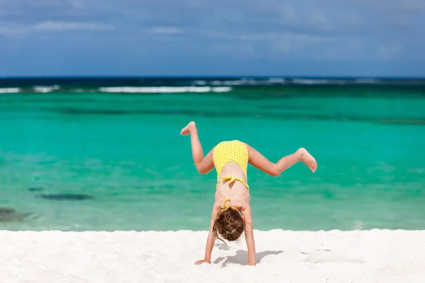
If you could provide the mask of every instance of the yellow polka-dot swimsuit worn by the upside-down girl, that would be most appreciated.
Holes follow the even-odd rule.
[[[244,171],[245,178],[248,180],[246,169],[248,168],[249,154],[246,146],[241,141],[222,141],[215,146],[212,151],[212,161],[214,162],[215,169],[217,170],[217,186],[224,180],[229,180],[229,183],[238,180],[243,183],[249,190],[248,184],[242,178],[235,177],[234,175],[227,175],[220,178],[222,168],[230,162],[237,163],[237,165]],[[219,179],[220,178],[220,179]]]

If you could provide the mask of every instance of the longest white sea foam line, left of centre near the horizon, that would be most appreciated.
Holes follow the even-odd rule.
[[[232,88],[229,86],[210,87],[210,86],[154,86],[154,87],[132,87],[117,86],[99,88],[103,93],[210,93],[210,92],[229,92]]]

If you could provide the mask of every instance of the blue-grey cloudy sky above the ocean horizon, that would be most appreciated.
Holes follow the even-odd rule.
[[[0,76],[425,77],[425,0],[0,0]]]

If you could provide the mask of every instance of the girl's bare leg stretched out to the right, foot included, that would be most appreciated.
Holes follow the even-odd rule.
[[[249,144],[245,144],[245,146],[246,149],[248,149],[249,163],[251,163],[251,165],[255,168],[271,176],[276,177],[280,175],[280,173],[290,168],[290,166],[293,166],[298,161],[305,163],[312,172],[317,169],[316,160],[303,148],[298,149],[293,154],[283,156],[277,163],[273,163],[268,161],[268,159],[260,154],[259,151],[256,151],[254,148],[249,146]]]

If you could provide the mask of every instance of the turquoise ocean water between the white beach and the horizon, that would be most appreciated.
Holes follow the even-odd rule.
[[[249,166],[254,229],[425,229],[425,82],[280,78],[0,80],[0,229],[207,230],[191,120],[205,154],[317,158]]]

